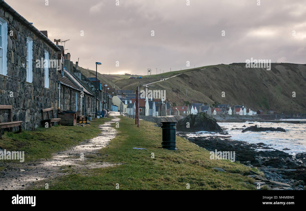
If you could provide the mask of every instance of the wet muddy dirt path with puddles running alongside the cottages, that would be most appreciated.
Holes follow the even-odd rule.
[[[120,121],[116,117],[118,112],[111,112],[112,120],[99,125],[101,133],[93,138],[85,140],[80,145],[53,154],[52,158],[41,159],[28,163],[10,163],[1,173],[0,190],[16,190],[30,187],[39,180],[54,180],[58,176],[69,172],[80,173],[84,169],[102,168],[113,165],[111,163],[88,162],[88,157],[98,156],[98,150],[107,146],[109,141],[116,136],[117,131],[111,127],[112,123]],[[63,172],[63,166],[71,166],[69,172]],[[46,182],[47,183],[47,182]]]

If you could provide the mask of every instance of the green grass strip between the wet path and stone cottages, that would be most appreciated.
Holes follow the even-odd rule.
[[[101,132],[98,125],[103,124],[105,120],[109,118],[96,119],[84,127],[56,125],[52,128],[37,128],[36,131],[5,132],[3,139],[0,139],[0,148],[7,151],[24,151],[25,162],[49,158],[52,153],[97,136]],[[0,160],[0,164],[7,162],[19,160]]]

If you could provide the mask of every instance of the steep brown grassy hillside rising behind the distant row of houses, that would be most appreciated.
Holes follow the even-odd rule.
[[[211,106],[230,102],[231,106],[244,104],[264,113],[306,113],[306,65],[272,63],[267,70],[233,63],[204,68],[151,84],[149,89],[165,89],[171,105],[184,105],[184,101]]]

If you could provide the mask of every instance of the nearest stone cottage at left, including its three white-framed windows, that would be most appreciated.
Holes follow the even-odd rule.
[[[47,35],[47,34],[46,34]],[[41,124],[41,109],[54,107],[57,117],[58,48],[41,31],[0,0],[0,105],[13,106],[13,121],[32,130]],[[1,110],[0,122],[8,121]]]

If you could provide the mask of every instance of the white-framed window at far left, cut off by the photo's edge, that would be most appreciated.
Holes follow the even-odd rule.
[[[0,18],[0,74],[7,74],[7,22]]]

